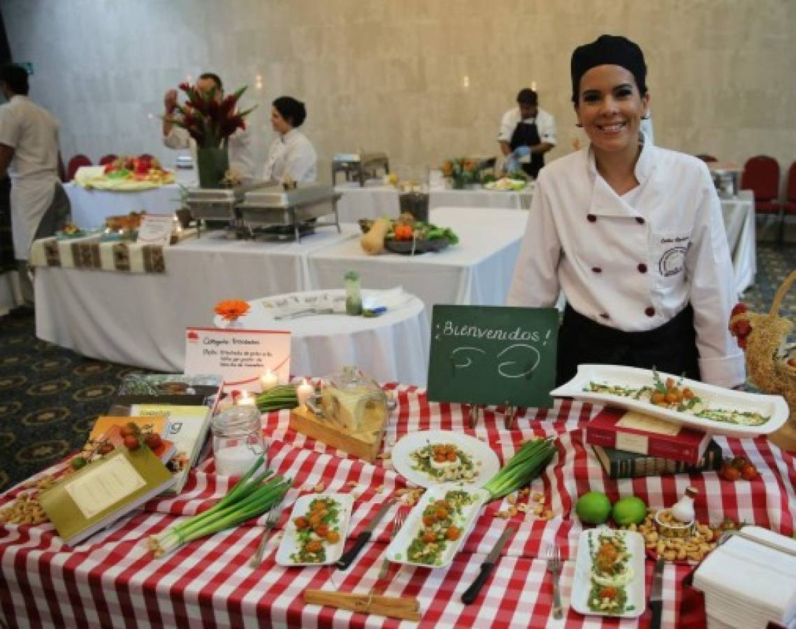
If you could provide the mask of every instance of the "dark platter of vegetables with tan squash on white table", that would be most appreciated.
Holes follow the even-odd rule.
[[[377,218],[359,221],[363,236],[360,244],[366,253],[377,254],[384,249],[404,256],[434,252],[458,244],[458,236],[449,227],[417,221],[404,212],[397,219]]]

